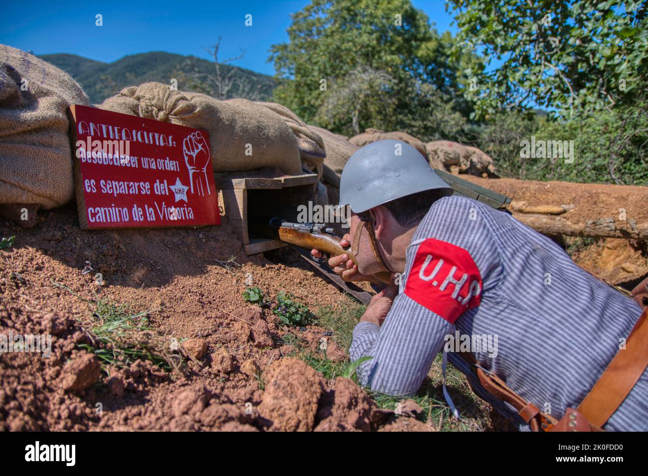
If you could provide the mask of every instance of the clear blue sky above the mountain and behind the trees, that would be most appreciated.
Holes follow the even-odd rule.
[[[60,1],[5,2],[0,17],[0,43],[34,54],[73,53],[112,62],[126,54],[168,51],[209,58],[209,47],[222,35],[220,59],[260,73],[273,74],[267,63],[273,43],[288,40],[290,14],[308,5],[294,1]],[[439,32],[456,33],[443,0],[413,0]],[[48,5],[49,4],[49,5]],[[102,14],[103,27],[95,26]],[[244,25],[252,15],[252,27]]]

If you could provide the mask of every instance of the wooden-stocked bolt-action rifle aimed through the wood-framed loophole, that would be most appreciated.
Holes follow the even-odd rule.
[[[319,249],[330,256],[346,253],[356,266],[358,264],[356,257],[350,253],[351,247],[341,247],[342,238],[333,234],[334,230],[327,227],[326,223],[292,223],[281,218],[260,215],[251,221],[249,231],[257,236],[291,245]],[[376,273],[375,277],[389,284],[391,273]]]

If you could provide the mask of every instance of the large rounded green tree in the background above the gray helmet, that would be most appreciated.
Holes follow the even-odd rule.
[[[307,122],[452,139],[470,112],[456,91],[468,79],[461,71],[481,71],[478,57],[450,58],[452,36],[439,35],[410,0],[314,0],[292,16],[288,38],[271,49],[281,82],[274,98]],[[445,112],[450,126],[437,130]]]

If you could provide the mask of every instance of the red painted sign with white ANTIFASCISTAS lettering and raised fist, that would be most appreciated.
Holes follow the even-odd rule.
[[[220,224],[207,131],[70,109],[82,229]]]

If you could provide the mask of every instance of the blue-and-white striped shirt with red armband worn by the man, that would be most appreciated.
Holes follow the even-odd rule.
[[[421,254],[419,249],[432,249],[432,256],[444,246],[469,258],[457,258],[458,271],[448,274],[455,285],[439,291],[439,282],[429,281],[437,271],[432,269],[435,261],[428,259],[428,266],[421,267],[427,251]],[[478,273],[470,276],[480,279],[474,288],[469,288],[469,280],[459,286],[461,271],[473,266],[469,262]],[[410,276],[413,266],[419,272]],[[439,273],[439,280],[443,277]],[[481,367],[556,418],[567,407],[577,407],[592,389],[642,312],[634,300],[576,266],[550,238],[505,212],[459,196],[439,199],[430,207],[406,251],[400,286],[404,292],[395,298],[382,326],[362,322],[354,328],[351,360],[373,357],[358,367],[363,385],[391,395],[413,394],[445,347],[446,336],[456,331],[490,336],[496,352],[485,346],[471,348]],[[462,290],[452,295],[457,302],[470,303],[457,308],[448,297],[453,288]],[[474,291],[472,297],[467,289]],[[474,380],[458,354],[448,352],[448,359]],[[528,429],[511,412],[513,407],[481,390],[482,398],[520,429]],[[648,372],[605,429],[648,430]]]

